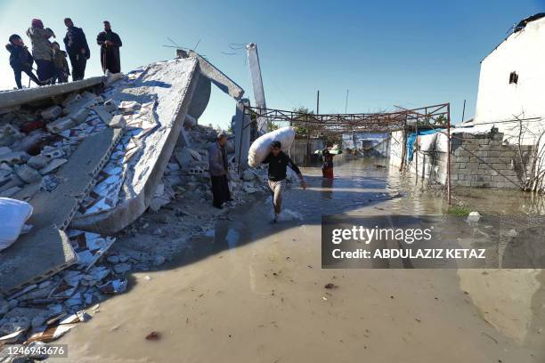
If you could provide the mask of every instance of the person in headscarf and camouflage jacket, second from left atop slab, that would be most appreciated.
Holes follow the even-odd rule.
[[[32,44],[32,57],[36,61],[37,77],[42,83],[51,82],[55,74],[53,66],[53,51],[50,37],[55,37],[53,30],[44,28],[42,20],[33,19],[27,36]]]

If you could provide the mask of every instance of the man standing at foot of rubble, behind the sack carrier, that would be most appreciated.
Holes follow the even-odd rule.
[[[210,172],[210,181],[212,183],[212,205],[218,209],[223,208],[223,204],[232,200],[229,191],[229,181],[227,180],[227,135],[220,133],[217,140],[208,149],[208,164]]]

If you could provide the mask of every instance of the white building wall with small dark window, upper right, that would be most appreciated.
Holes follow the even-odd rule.
[[[513,71],[517,84],[509,84]],[[500,121],[517,117],[545,117],[545,18],[508,36],[481,64],[475,125],[497,123],[501,132],[514,135],[517,122]],[[544,123],[526,125],[537,132]]]

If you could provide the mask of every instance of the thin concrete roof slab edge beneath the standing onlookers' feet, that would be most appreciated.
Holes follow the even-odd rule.
[[[90,77],[81,81],[61,85],[47,85],[43,87],[2,92],[0,93],[0,113],[2,113],[2,110],[4,109],[12,109],[23,104],[46,100],[65,93],[73,93],[95,85],[101,85],[106,79],[107,77],[103,76]]]

